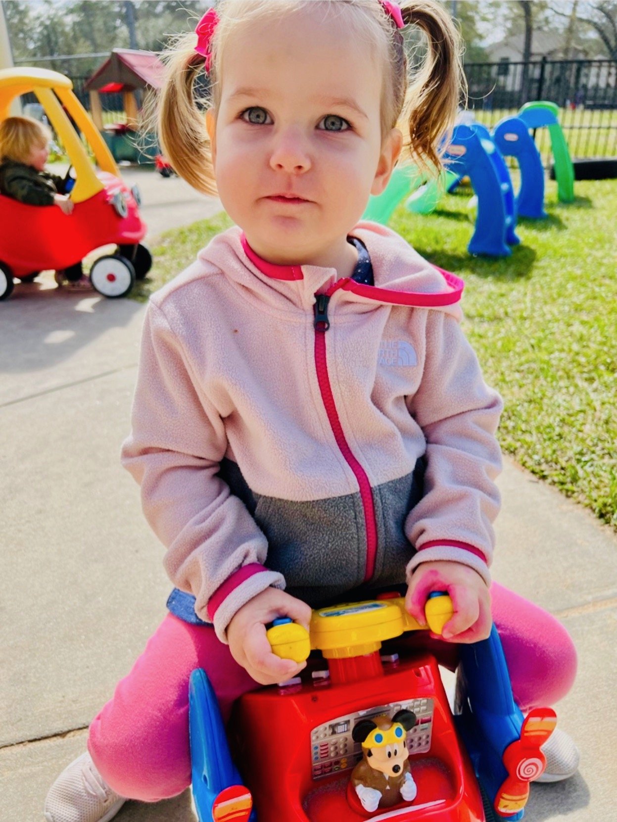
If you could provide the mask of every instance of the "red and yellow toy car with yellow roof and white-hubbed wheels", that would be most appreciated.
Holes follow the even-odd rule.
[[[45,269],[75,273],[87,254],[106,245],[116,245],[117,251],[99,257],[90,270],[94,288],[105,297],[123,297],[152,265],[150,252],[141,244],[146,227],[137,187],[129,189],[122,180],[107,145],[71,89],[68,77],[46,69],[0,71],[0,122],[9,116],[13,99],[34,92],[75,169],[71,215],[55,205],[25,205],[0,195],[0,300],[10,296],[15,279],[32,280]],[[69,117],[90,144],[98,169],[90,163]]]

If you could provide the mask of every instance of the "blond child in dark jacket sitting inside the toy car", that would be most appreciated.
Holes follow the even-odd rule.
[[[29,205],[58,205],[66,215],[74,204],[67,195],[67,181],[45,171],[51,132],[31,117],[7,117],[0,122],[0,194]],[[57,272],[56,281],[71,289],[90,289],[90,279],[73,266]]]

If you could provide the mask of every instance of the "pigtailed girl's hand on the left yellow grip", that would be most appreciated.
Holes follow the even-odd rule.
[[[227,628],[233,658],[261,685],[287,681],[306,667],[306,662],[298,665],[272,653],[265,626],[276,617],[291,617],[308,630],[311,608],[278,588],[266,588],[234,614]]]

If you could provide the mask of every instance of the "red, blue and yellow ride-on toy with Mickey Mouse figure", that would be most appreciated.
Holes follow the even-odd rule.
[[[431,594],[431,630],[441,633],[451,616],[449,597]],[[194,671],[189,723],[200,822],[522,819],[529,782],[546,767],[540,748],[555,712],[534,709],[523,718],[493,627],[488,640],[459,646],[453,716],[430,653],[405,653],[398,640],[400,656],[392,643],[380,656],[383,641],[420,628],[396,592],[314,611],[310,636],[287,618],[275,621],[268,630],[274,653],[302,661],[318,649],[328,670],[311,657],[302,678],[242,696],[227,729],[208,677]],[[403,738],[407,753],[397,742]],[[350,775],[371,754],[382,772],[389,757],[407,762],[417,790],[393,804],[382,778],[379,806],[366,810],[366,792]]]

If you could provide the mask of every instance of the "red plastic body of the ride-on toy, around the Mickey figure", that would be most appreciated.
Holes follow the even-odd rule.
[[[373,670],[381,665],[379,653],[361,659]],[[352,681],[346,681],[345,663],[358,661],[337,660],[338,673],[331,667],[335,681],[260,690],[237,704],[230,740],[258,820],[484,822],[477,780],[454,730],[435,658],[421,654],[385,663],[382,674],[370,679],[356,664],[349,671]],[[348,791],[349,775],[361,759],[361,747],[351,739],[353,721],[358,714],[371,717],[384,707],[394,713],[410,704],[418,716],[407,737],[417,797],[369,814]]]

